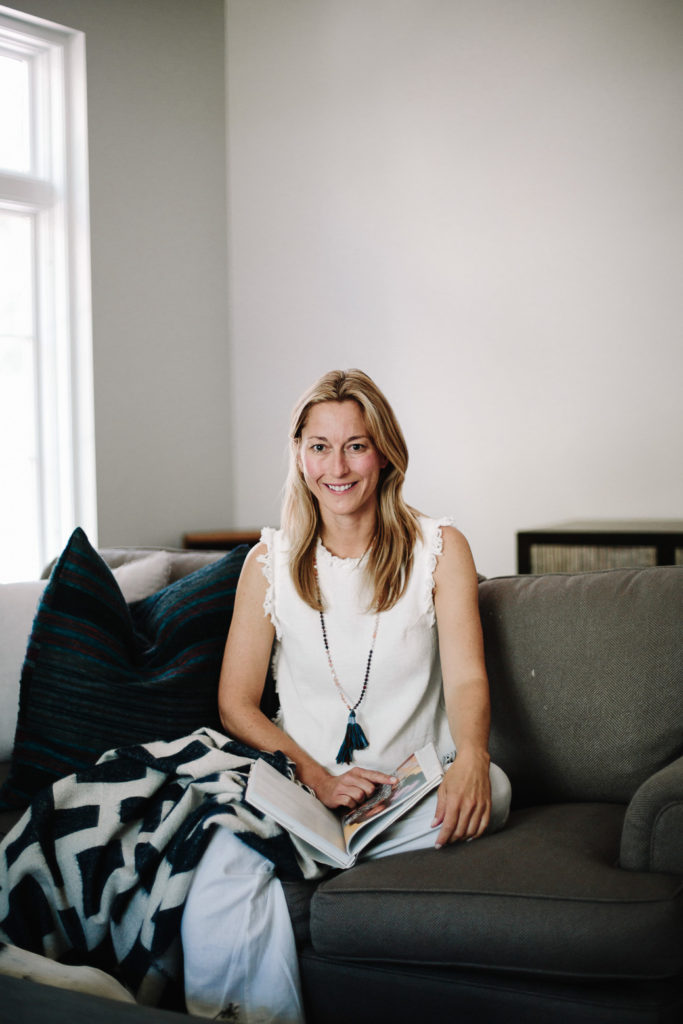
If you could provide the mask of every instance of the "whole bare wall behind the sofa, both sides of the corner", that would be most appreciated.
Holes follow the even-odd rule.
[[[354,365],[483,572],[680,516],[678,0],[24,8],[87,36],[100,543],[276,522],[293,400]]]

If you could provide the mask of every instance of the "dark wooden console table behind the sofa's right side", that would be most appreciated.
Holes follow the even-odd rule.
[[[681,564],[681,519],[575,519],[517,534],[518,572]]]

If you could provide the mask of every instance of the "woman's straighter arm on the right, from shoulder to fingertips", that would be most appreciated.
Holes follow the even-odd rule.
[[[477,575],[469,545],[443,527],[434,571],[443,695],[457,756],[438,791],[436,846],[480,836],[490,817],[490,702],[479,618]]]

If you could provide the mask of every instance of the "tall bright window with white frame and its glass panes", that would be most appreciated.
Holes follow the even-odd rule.
[[[0,7],[0,583],[96,543],[85,42]]]

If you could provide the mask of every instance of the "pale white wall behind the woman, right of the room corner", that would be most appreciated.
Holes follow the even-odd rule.
[[[683,4],[227,0],[234,521],[360,366],[408,497],[518,528],[681,515]]]

